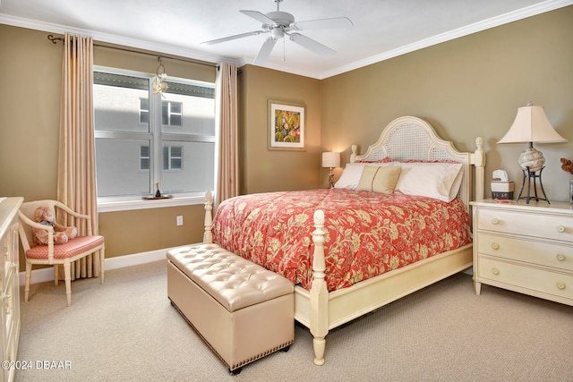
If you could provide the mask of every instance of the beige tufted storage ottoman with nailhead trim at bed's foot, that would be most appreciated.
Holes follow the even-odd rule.
[[[232,373],[293,343],[294,285],[285,277],[217,244],[169,250],[167,260],[169,300]]]

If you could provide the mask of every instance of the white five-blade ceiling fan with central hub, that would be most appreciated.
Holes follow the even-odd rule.
[[[295,44],[305,47],[317,55],[329,57],[335,55],[336,51],[322,45],[320,42],[308,38],[300,33],[299,30],[318,30],[318,29],[335,29],[335,28],[352,28],[354,24],[347,17],[335,17],[331,19],[317,19],[309,21],[295,22],[295,16],[291,13],[280,12],[279,5],[283,0],[273,0],[277,3],[277,12],[260,13],[258,11],[245,11],[243,13],[252,17],[256,21],[262,22],[261,30],[253,30],[251,32],[241,33],[226,38],[217,38],[210,41],[202,42],[201,44],[213,45],[221,42],[230,41],[236,38],[246,38],[250,36],[257,36],[261,33],[270,33],[270,37],[262,44],[261,50],[255,57],[252,64],[262,64],[269,58],[272,48],[275,47],[279,38],[284,38],[285,35],[288,39]]]

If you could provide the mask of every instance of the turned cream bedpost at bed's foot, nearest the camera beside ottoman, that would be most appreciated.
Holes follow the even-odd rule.
[[[324,212],[317,209],[314,212],[314,232],[312,232],[312,242],[314,242],[314,254],[312,259],[312,286],[311,286],[311,333],[314,337],[312,344],[314,347],[314,363],[324,364],[324,349],[326,346],[326,335],[329,333],[329,291],[324,281],[326,263],[324,260],[324,242],[326,232],[324,231]]]

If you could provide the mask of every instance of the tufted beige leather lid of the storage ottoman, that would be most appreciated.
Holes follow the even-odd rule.
[[[167,259],[228,311],[293,293],[285,277],[224,250],[196,244],[167,251]]]

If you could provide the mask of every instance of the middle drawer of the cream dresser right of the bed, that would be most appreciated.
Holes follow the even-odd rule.
[[[479,253],[546,267],[573,270],[573,246],[489,233],[481,233],[480,240],[474,245],[477,245]]]

